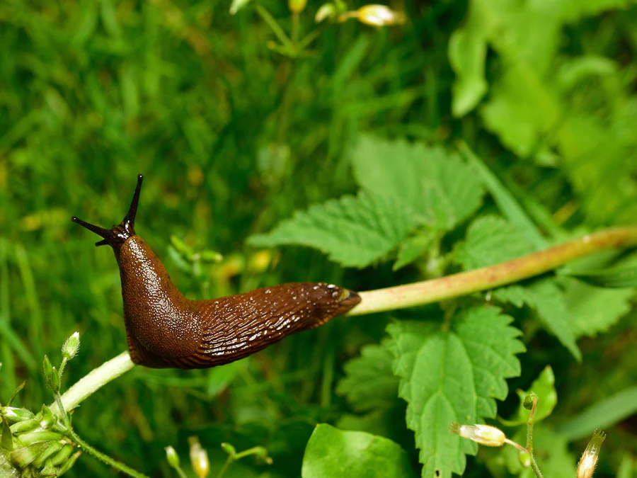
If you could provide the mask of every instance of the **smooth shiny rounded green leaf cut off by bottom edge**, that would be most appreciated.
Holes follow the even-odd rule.
[[[405,450],[388,438],[321,423],[307,443],[302,478],[415,477]]]

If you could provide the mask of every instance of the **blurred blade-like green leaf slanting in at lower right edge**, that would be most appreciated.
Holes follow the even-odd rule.
[[[607,429],[636,413],[637,387],[629,387],[562,423],[558,432],[568,440],[579,440],[592,434],[595,428]]]

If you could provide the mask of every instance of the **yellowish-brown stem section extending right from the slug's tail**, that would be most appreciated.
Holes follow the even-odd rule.
[[[529,254],[512,261],[447,275],[447,277],[396,287],[360,292],[361,302],[348,316],[405,309],[431,304],[474,292],[491,290],[501,285],[540,275],[563,266],[569,261],[604,249],[637,245],[637,227],[605,229],[580,239]]]

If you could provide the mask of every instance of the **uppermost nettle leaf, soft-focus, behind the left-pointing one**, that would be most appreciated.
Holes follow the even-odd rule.
[[[459,154],[405,140],[365,136],[352,153],[354,176],[372,195],[403,202],[423,225],[448,231],[482,203],[481,181]]]

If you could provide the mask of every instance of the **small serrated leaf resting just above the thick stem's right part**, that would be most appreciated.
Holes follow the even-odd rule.
[[[464,242],[455,250],[455,261],[465,271],[530,254],[533,246],[524,235],[502,217],[487,215],[471,222]]]

